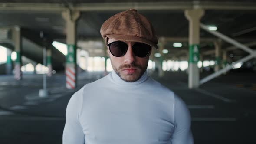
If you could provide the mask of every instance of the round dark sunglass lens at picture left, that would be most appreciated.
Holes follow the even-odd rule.
[[[109,50],[112,53],[113,56],[124,56],[126,51],[128,49],[128,46],[125,42],[117,41],[110,43]]]

